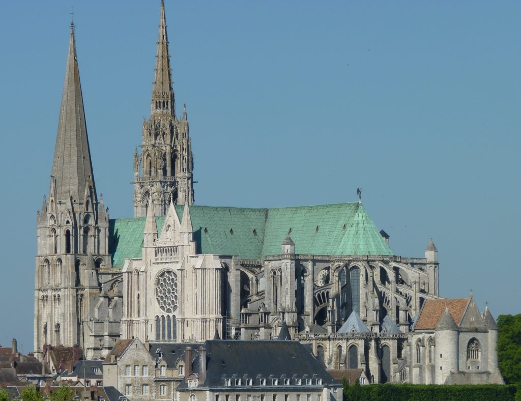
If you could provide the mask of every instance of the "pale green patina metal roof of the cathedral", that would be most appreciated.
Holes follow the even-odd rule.
[[[183,205],[176,205],[179,219]],[[262,259],[280,254],[290,231],[295,253],[306,255],[391,255],[375,224],[358,202],[272,209],[190,206],[197,253]],[[156,217],[160,232],[164,216]],[[145,218],[110,220],[113,266],[140,258]]]

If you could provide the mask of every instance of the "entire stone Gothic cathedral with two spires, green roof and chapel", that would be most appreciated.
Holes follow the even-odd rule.
[[[194,205],[163,2],[155,66],[151,115],[133,155],[134,217],[109,219],[94,182],[71,23],[51,182],[36,223],[36,356],[45,344],[80,344],[100,358],[132,337],[280,338],[311,344],[330,369],[362,367],[373,382],[501,382],[488,309],[480,314],[472,296],[440,297],[432,240],[421,257],[394,255],[361,199]]]

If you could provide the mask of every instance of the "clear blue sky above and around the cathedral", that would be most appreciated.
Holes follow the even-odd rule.
[[[159,1],[0,3],[0,343],[32,350],[74,6],[96,187],[132,216]],[[432,236],[440,294],[519,312],[520,2],[166,1],[199,205],[363,202],[397,255]]]

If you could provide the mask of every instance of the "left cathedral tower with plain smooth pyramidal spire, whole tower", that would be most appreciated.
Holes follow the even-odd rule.
[[[51,185],[36,231],[34,349],[40,357],[44,344],[88,342],[100,298],[97,271],[111,267],[108,209],[94,184],[72,22]]]

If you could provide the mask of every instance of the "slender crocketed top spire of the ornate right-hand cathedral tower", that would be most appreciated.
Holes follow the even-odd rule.
[[[159,17],[159,37],[157,40],[156,69],[152,88],[152,113],[168,111],[176,115],[175,98],[173,94],[172,74],[170,71],[170,56],[168,54],[168,35],[166,32],[165,4],[161,1]]]

